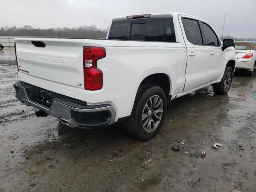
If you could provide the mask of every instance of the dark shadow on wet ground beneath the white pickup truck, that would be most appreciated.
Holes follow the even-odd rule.
[[[166,114],[165,122],[168,122],[168,119],[174,116],[175,112],[186,111],[193,106],[200,107],[202,104],[202,100],[207,99],[220,99],[224,100],[224,102],[228,102],[228,95],[225,96],[216,96],[211,88],[205,88],[202,90],[198,90],[196,92],[190,93],[188,96],[183,96],[181,98],[177,98],[172,100],[172,104],[168,113]],[[199,104],[199,106],[198,106]],[[90,140],[101,140],[102,142],[116,142],[120,140],[131,140],[135,139],[129,136],[124,130],[124,124],[126,122],[119,122],[112,124],[111,126],[105,126],[102,128],[94,128],[94,129],[83,129],[83,128],[70,128],[61,122],[58,124],[58,136],[61,138],[65,138],[65,140],[79,138]]]

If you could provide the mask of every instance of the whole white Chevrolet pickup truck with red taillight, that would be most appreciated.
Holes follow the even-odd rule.
[[[114,18],[106,39],[16,37],[16,97],[71,127],[125,120],[140,140],[155,136],[170,101],[208,85],[226,94],[234,40],[177,12]]]

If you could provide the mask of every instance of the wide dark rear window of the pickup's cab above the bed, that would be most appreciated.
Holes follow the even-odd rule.
[[[172,18],[115,21],[109,39],[176,42]]]

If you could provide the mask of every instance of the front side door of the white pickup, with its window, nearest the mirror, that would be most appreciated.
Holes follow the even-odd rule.
[[[224,52],[221,43],[214,30],[205,22],[200,22],[203,31],[204,45],[209,48],[210,60],[208,65],[207,83],[218,80],[223,75],[225,68]]]

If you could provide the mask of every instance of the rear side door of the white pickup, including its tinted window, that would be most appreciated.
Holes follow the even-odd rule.
[[[189,16],[179,16],[187,47],[186,82],[183,92],[205,85],[209,64],[209,48],[204,46],[199,21]]]

